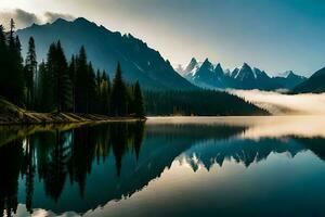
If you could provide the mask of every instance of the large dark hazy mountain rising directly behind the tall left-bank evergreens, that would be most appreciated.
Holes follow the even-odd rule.
[[[35,38],[38,61],[47,58],[49,46],[53,41],[61,40],[68,59],[84,46],[89,60],[95,67],[105,69],[110,78],[120,61],[126,80],[138,79],[146,89],[195,89],[172,68],[169,61],[165,61],[158,51],[151,49],[142,40],[130,34],[113,33],[86,18],[73,22],[58,18],[52,24],[34,24],[17,30],[17,35],[24,54],[29,37]]]

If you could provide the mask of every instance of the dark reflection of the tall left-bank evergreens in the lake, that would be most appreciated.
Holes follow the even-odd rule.
[[[122,155],[134,150],[139,156],[143,130],[141,122],[116,123],[38,132],[25,140],[11,139],[0,148],[0,170],[5,176],[0,179],[0,212],[8,216],[16,212],[20,173],[24,176],[26,208],[30,213],[36,174],[44,183],[46,194],[55,202],[68,177],[70,183],[79,186],[80,196],[83,196],[93,162],[105,162],[112,148],[119,176]]]

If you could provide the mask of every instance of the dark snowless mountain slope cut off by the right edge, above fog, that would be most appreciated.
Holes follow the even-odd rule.
[[[295,93],[321,93],[325,92],[325,67],[314,73],[308,80],[298,85],[292,92]]]

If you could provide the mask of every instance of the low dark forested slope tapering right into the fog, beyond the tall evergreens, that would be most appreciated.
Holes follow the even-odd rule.
[[[214,90],[145,91],[147,115],[268,115],[245,100]]]

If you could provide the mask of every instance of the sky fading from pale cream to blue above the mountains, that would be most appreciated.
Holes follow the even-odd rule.
[[[310,76],[325,66],[324,9],[323,0],[1,0],[0,22],[82,16],[131,33],[173,65],[195,56]]]

